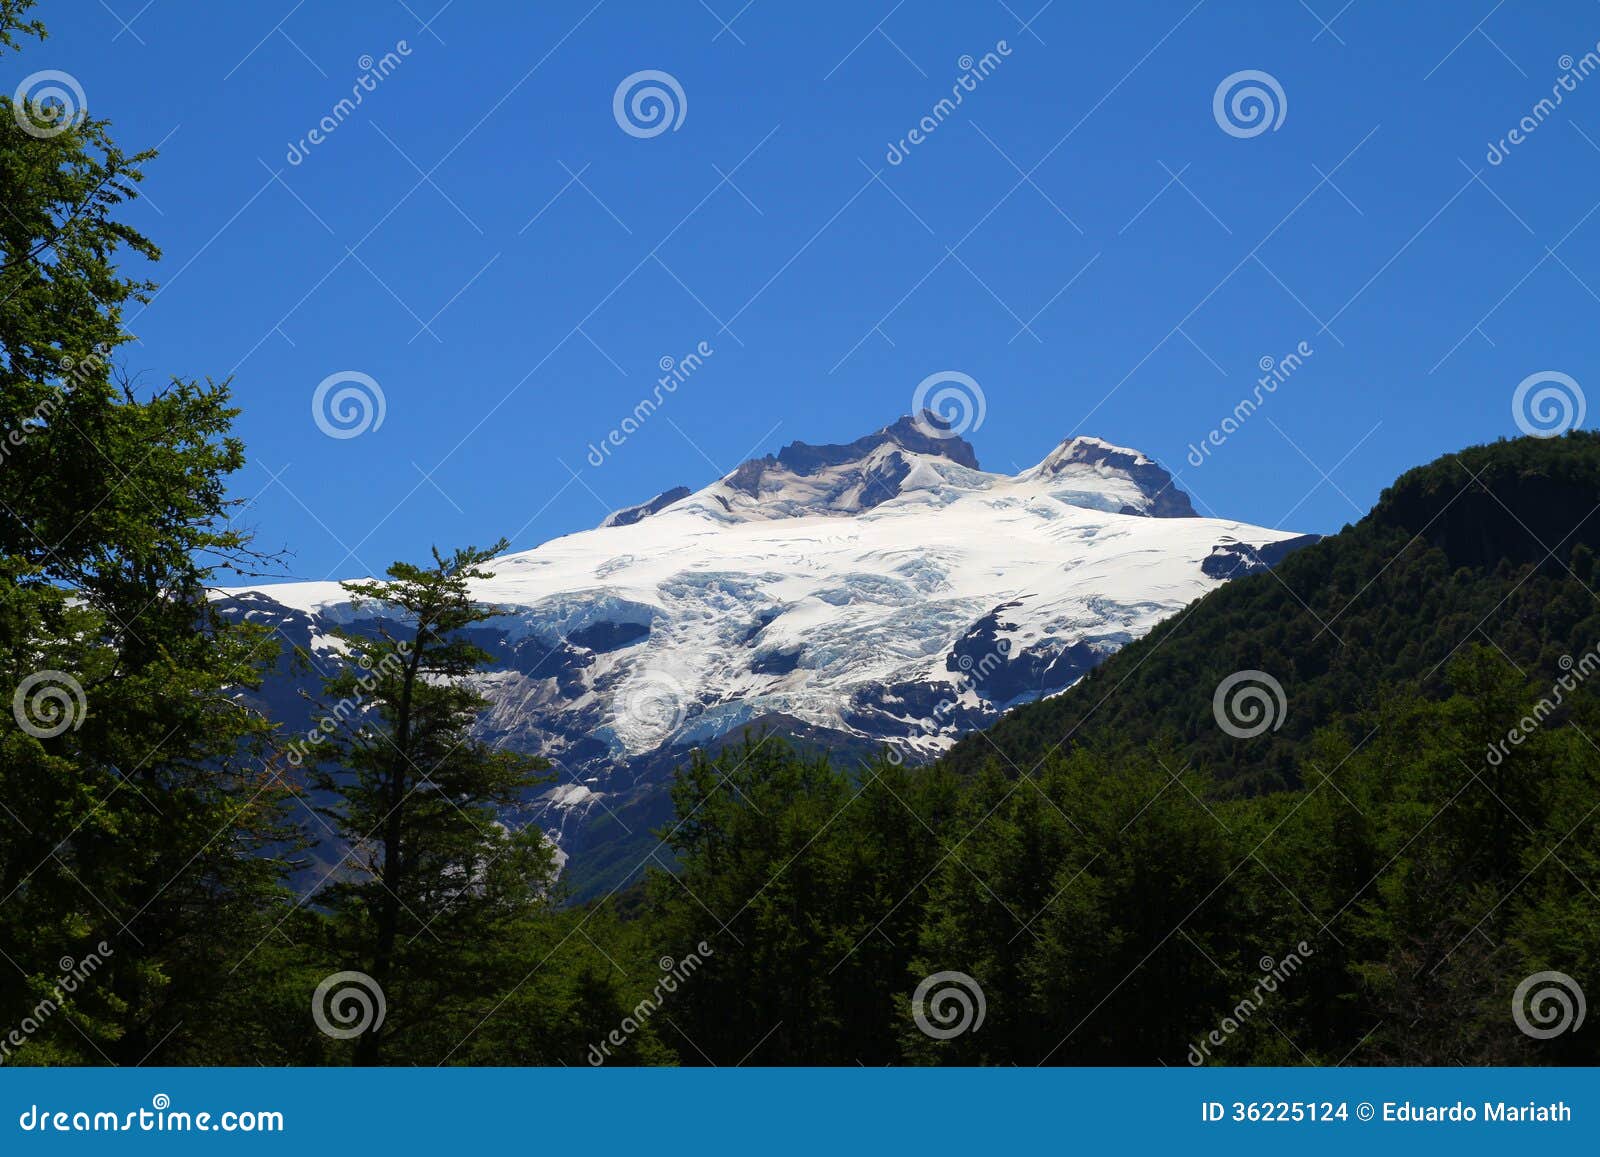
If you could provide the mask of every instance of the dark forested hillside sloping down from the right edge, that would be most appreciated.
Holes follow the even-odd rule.
[[[963,739],[946,765],[1027,770],[1069,739],[1160,738],[1230,789],[1299,786],[1318,728],[1397,690],[1443,695],[1466,645],[1549,680],[1560,656],[1600,643],[1597,515],[1600,435],[1446,454],[1400,477],[1336,538],[1192,603],[1070,695]],[[1218,683],[1246,669],[1277,679],[1288,704],[1275,730],[1248,741],[1211,719]]]

